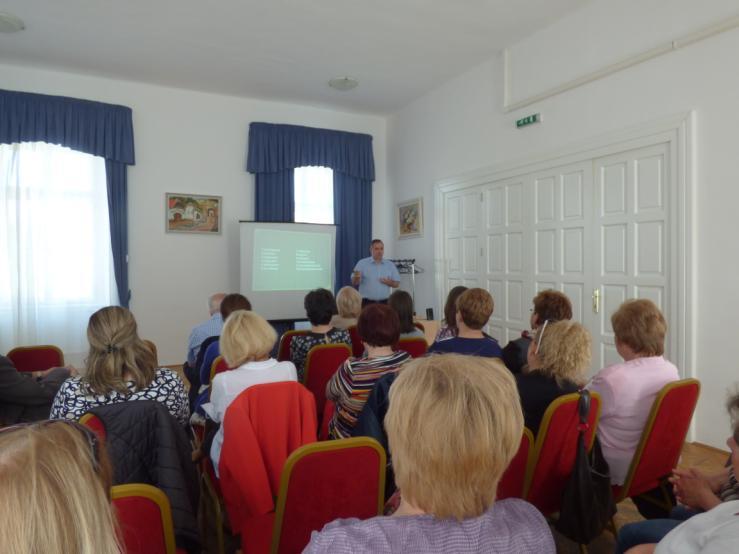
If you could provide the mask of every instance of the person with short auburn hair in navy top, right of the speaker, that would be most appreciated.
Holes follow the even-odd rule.
[[[484,289],[468,289],[457,299],[457,336],[436,341],[429,352],[470,354],[500,358],[498,341],[485,335],[482,328],[493,315],[493,297]]]

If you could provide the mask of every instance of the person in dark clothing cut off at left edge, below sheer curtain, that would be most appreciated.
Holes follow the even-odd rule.
[[[18,371],[10,358],[0,356],[0,427],[48,419],[54,396],[70,375],[77,371],[66,367]]]

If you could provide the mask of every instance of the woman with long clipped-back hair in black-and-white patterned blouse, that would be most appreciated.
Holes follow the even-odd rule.
[[[87,326],[87,370],[62,384],[51,419],[79,419],[96,406],[156,400],[187,424],[189,407],[182,380],[171,369],[156,367],[154,353],[139,338],[133,314],[120,306],[102,308]]]

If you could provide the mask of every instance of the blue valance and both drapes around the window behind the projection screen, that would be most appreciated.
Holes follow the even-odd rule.
[[[255,174],[255,219],[293,221],[293,170],[329,167],[334,172],[336,283],[348,284],[352,267],[372,240],[372,136],[298,125],[252,123],[246,169]]]

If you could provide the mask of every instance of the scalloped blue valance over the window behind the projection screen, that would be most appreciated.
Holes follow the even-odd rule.
[[[375,180],[372,136],[300,125],[252,123],[249,125],[249,173],[276,173],[318,165],[334,171]]]

